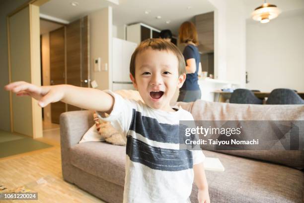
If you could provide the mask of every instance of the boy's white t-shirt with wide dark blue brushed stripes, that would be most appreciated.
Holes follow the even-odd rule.
[[[155,110],[105,92],[114,106],[108,117],[99,117],[111,121],[127,143],[123,203],[191,203],[193,165],[205,159],[201,150],[179,150],[179,120],[193,120],[192,114]]]

